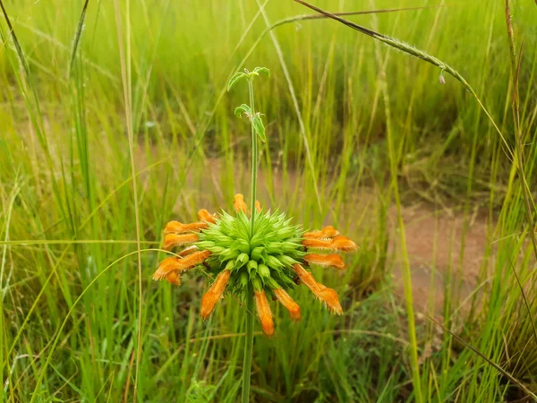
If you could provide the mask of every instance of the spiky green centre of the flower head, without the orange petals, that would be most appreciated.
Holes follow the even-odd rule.
[[[285,213],[261,211],[250,218],[243,210],[232,216],[222,211],[214,224],[203,229],[195,245],[211,253],[205,261],[209,274],[230,271],[228,290],[245,300],[252,292],[294,287],[293,265],[303,262],[304,231],[292,225]]]

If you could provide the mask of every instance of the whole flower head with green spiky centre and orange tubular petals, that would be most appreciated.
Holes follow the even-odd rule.
[[[167,251],[183,247],[160,262],[153,279],[166,279],[179,286],[185,271],[203,268],[211,286],[201,298],[201,317],[208,319],[225,292],[255,300],[263,331],[274,333],[268,296],[273,296],[291,315],[301,319],[300,306],[286,290],[300,281],[333,313],[343,313],[337,292],[317,282],[310,265],[345,270],[345,262],[337,253],[320,254],[316,250],[350,252],[356,244],[342,236],[334,227],[304,232],[291,224],[284,213],[263,212],[255,203],[253,221],[242,194],[234,198],[235,215],[226,211],[210,214],[198,211],[198,222],[183,224],[170,221],[164,230],[163,248]],[[305,268],[304,268],[305,266]]]

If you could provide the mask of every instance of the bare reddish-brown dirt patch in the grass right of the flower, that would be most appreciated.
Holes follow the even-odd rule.
[[[435,312],[441,313],[444,289],[450,271],[455,291],[459,293],[461,301],[464,301],[477,287],[486,249],[487,219],[481,215],[469,219],[462,254],[461,245],[465,228],[462,213],[449,210],[435,211],[430,206],[416,204],[413,207],[403,208],[402,216],[416,308],[426,312],[432,303]],[[389,220],[392,229],[390,248],[392,251],[396,248],[393,269],[396,294],[404,296],[403,261],[399,247],[400,237],[395,229],[397,220],[395,208],[390,210]],[[432,274],[434,274],[433,289],[431,289]]]

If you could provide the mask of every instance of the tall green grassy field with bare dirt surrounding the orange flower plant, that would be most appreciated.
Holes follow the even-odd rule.
[[[151,274],[167,221],[249,193],[233,113],[248,93],[226,84],[257,65],[272,73],[256,84],[261,203],[361,250],[344,273],[313,270],[343,315],[297,287],[302,322],[273,304],[276,336],[256,324],[251,401],[537,400],[537,4],[511,4],[508,36],[503,2],[360,3],[316,5],[382,10],[345,18],[474,93],[404,48],[293,19],[315,13],[291,0],[0,1],[3,401],[239,399],[243,306],[226,296],[203,322],[200,273]],[[434,224],[446,211],[460,231]],[[405,228],[426,214],[422,295]]]

